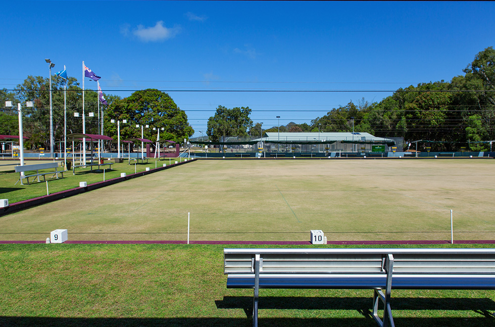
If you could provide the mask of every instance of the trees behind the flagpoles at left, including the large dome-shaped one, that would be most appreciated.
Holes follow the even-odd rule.
[[[57,75],[51,77],[55,142],[62,141],[64,135],[64,84],[65,80]],[[125,98],[106,94],[107,106],[98,103],[96,91],[85,90],[84,98],[86,134],[103,134],[117,140],[117,121],[120,121],[121,140],[141,138],[141,125],[148,125],[148,128],[143,129],[143,137],[153,142],[156,141],[158,129],[160,140],[183,142],[194,134],[184,110],[181,110],[167,93],[155,89],[137,91]],[[15,91],[0,90],[0,99],[0,134],[19,133],[17,106],[4,107],[4,101],[22,103],[23,135],[28,137],[24,146],[27,149],[49,149],[49,78],[28,76],[22,84],[16,86]],[[34,107],[25,107],[26,101],[33,101]],[[82,89],[77,79],[69,77],[66,92],[67,134],[82,133],[82,101]],[[79,117],[74,117],[76,112],[79,113]],[[90,112],[94,113],[94,117],[89,117]],[[103,131],[98,119],[99,114],[103,115]],[[126,123],[123,123],[124,119]],[[111,120],[115,120],[115,123],[111,123]],[[55,145],[55,149],[57,148],[59,146]]]

